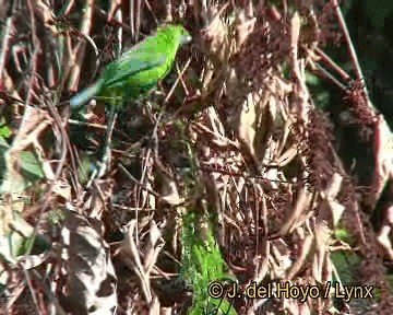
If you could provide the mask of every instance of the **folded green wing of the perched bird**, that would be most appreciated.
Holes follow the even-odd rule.
[[[131,50],[110,63],[105,71],[105,86],[121,86],[132,75],[165,65],[165,52],[150,50]]]

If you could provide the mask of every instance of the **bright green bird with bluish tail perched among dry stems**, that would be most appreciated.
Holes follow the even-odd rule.
[[[190,40],[181,25],[158,27],[155,36],[146,37],[109,63],[100,79],[74,95],[70,105],[81,106],[93,97],[105,97],[111,105],[136,98],[168,74],[178,49]]]

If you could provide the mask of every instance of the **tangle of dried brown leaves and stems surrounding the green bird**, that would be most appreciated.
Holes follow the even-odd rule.
[[[11,233],[51,244],[39,254],[35,246],[23,256],[0,253],[1,314],[186,312],[190,292],[177,276],[189,211],[212,214],[199,234],[213,224],[241,288],[289,281],[324,292],[342,277],[333,254],[343,249],[361,261],[347,270],[357,276],[350,284],[374,285],[373,300],[338,304],[334,294],[237,299],[238,314],[393,310],[383,264],[393,261],[392,206],[378,231],[369,222],[392,176],[393,140],[370,105],[337,2],[311,1],[313,10],[306,1],[214,2],[0,1],[0,110],[12,140],[2,151],[1,244]],[[104,105],[80,121],[67,101],[156,21],[183,24],[193,44],[159,92],[122,109],[110,167],[95,176],[90,165],[99,159],[84,158],[104,145]],[[333,42],[348,48],[356,78],[323,52]],[[342,89],[348,124],[372,148],[366,189],[343,165],[335,126],[306,83],[311,72]],[[35,156],[28,165],[40,165],[34,180],[26,152]]]

